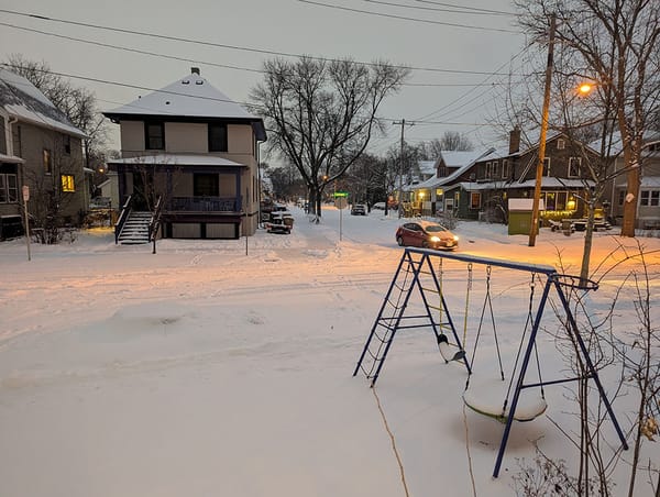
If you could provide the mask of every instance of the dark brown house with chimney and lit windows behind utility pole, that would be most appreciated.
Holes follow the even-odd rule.
[[[433,187],[442,188],[443,209],[453,209],[459,218],[486,216],[488,220],[505,222],[508,198],[534,198],[538,157],[538,144],[520,151],[520,130],[516,129],[510,133],[508,150],[492,150]],[[586,216],[584,198],[588,197],[593,181],[586,179],[582,162],[597,158],[597,152],[574,146],[561,133],[546,140],[541,178],[543,219]]]

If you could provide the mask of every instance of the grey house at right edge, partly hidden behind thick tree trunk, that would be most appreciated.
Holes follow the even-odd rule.
[[[614,170],[623,170],[624,156],[620,140],[615,141],[610,150]],[[627,177],[625,173],[616,176],[612,190],[610,216],[620,220],[626,202]],[[660,229],[660,133],[645,136],[641,151],[641,183],[637,202],[637,227],[640,229]]]

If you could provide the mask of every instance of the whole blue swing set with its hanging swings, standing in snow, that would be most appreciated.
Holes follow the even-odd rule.
[[[454,311],[451,310],[450,302],[455,302],[458,296],[455,291],[447,291],[447,261],[465,263],[466,274],[464,279],[466,285],[462,330],[459,330],[457,322],[452,318],[452,312]],[[433,266],[433,262],[437,262],[437,268]],[[465,351],[465,343],[470,324],[471,296],[475,283],[475,267],[483,267],[485,272],[485,276],[481,280],[484,288],[484,297],[481,305],[479,324],[474,333],[473,350],[469,356],[468,351]],[[519,345],[508,379],[503,366],[501,343],[493,309],[493,268],[508,269],[522,276],[525,274],[529,275],[529,299],[525,309],[526,321],[521,330]],[[452,276],[455,279],[455,272],[452,273]],[[463,279],[463,276],[460,275],[459,279]],[[537,298],[536,287],[538,283],[542,284],[542,291],[540,297]],[[371,380],[371,386],[373,387],[378,379],[396,333],[407,329],[430,328],[435,334],[438,350],[443,361],[448,364],[462,363],[468,372],[463,393],[465,406],[480,415],[488,416],[505,424],[493,477],[499,475],[513,421],[531,421],[541,416],[548,408],[543,390],[543,387],[547,385],[575,382],[583,378],[593,379],[622,446],[624,450],[627,450],[628,445],[624,433],[607,399],[586,344],[581,336],[566,297],[566,290],[590,291],[595,289],[597,289],[597,284],[593,281],[585,283],[575,276],[559,274],[552,266],[407,247],[402,255],[378,316],[360,355],[353,376],[362,371],[366,378]],[[537,336],[551,290],[554,290],[559,298],[559,305],[554,310],[557,313],[563,310],[563,328],[579,355],[581,374],[576,377],[544,380],[541,375]],[[415,296],[421,297],[421,301],[415,300]],[[480,340],[487,328],[491,328],[493,331],[493,343],[499,368],[498,377],[476,382],[473,379],[476,351]],[[462,331],[462,338],[460,331]],[[528,380],[527,373],[532,362],[536,364],[538,379]]]

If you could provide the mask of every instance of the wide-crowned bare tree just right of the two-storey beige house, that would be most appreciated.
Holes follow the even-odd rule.
[[[270,146],[300,172],[318,221],[324,188],[364,152],[381,126],[381,103],[398,91],[409,71],[383,62],[301,57],[268,60],[264,73],[251,99],[265,118]]]

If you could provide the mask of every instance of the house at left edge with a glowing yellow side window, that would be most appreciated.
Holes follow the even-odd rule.
[[[81,222],[84,137],[28,79],[0,68],[0,240],[23,233],[23,186],[35,228]]]

